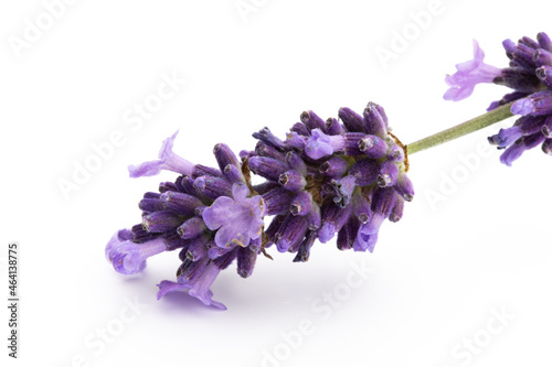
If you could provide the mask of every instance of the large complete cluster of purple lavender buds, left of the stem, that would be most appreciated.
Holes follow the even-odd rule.
[[[253,134],[255,150],[242,151],[241,160],[216,144],[216,169],[178,156],[177,134],[167,139],[159,160],[130,166],[130,176],[161,170],[180,176],[144,195],[141,223],[114,235],[108,261],[120,273],[137,273],[148,257],[178,249],[177,281],[158,284],[158,299],[183,290],[225,309],[210,290],[219,272],[236,260],[247,278],[272,245],[297,253],[294,261],[307,261],[317,239],[336,235],[341,250],[373,251],[382,223],[401,219],[414,195],[406,148],[389,132],[379,105],[370,102],[362,116],[341,108],[339,118],[302,112],[284,140],[264,128]],[[266,181],[252,185],[251,173]],[[265,216],[272,216],[267,227]]]

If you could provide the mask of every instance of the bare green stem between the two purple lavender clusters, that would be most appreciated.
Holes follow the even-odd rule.
[[[420,152],[425,149],[429,149],[433,147],[436,147],[438,144],[443,144],[444,142],[447,142],[449,140],[464,137],[468,133],[471,133],[474,131],[480,130],[482,128],[486,128],[488,126],[491,126],[493,123],[500,122],[511,116],[512,112],[510,112],[510,107],[512,106],[513,102],[509,102],[507,105],[500,106],[498,108],[495,108],[493,110],[478,116],[469,121],[466,121],[464,123],[457,125],[450,129],[446,129],[444,131],[437,132],[431,137],[421,139],[418,141],[415,141],[411,144],[406,145],[408,155],[414,154],[416,152]]]

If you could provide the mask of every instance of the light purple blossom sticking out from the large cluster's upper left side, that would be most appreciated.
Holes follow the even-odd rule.
[[[162,170],[177,172],[180,174],[191,175],[194,165],[183,158],[172,152],[172,145],[177,138],[178,131],[172,137],[167,138],[159,151],[159,159],[156,161],[144,162],[138,165],[130,165],[128,172],[130,177],[153,176]]]

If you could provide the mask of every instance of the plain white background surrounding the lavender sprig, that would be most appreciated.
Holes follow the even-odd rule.
[[[141,194],[176,177],[131,180],[127,165],[155,159],[177,129],[176,152],[214,164],[217,142],[252,149],[251,133],[264,126],[283,137],[302,110],[337,117],[339,107],[361,111],[373,100],[395,134],[413,142],[480,115],[508,91],[485,85],[467,100],[442,99],[445,74],[471,57],[473,39],[489,64],[503,67],[502,40],[552,32],[542,1],[442,0],[425,29],[410,14],[426,11],[426,0],[244,3],[255,7],[245,18],[234,0],[75,1],[19,52],[11,43],[24,40],[25,20],[36,24],[46,10],[41,1],[1,3],[0,288],[7,299],[7,245],[19,241],[22,300],[18,360],[7,356],[1,307],[2,360],[549,365],[552,161],[534,149],[507,168],[500,152],[478,153],[511,120],[412,155],[416,197],[402,222],[383,225],[374,253],[341,252],[331,241],[316,245],[308,263],[272,250],[275,261],[258,259],[247,280],[235,266],[222,272],[212,289],[226,312],[184,293],[156,301],[156,284],[174,279],[177,252],[135,277],[106,262],[110,236],[140,220]],[[411,40],[382,63],[378,47],[393,52],[393,34],[403,31]],[[126,123],[161,75],[185,85],[141,126]],[[64,197],[60,180],[73,180],[75,164],[114,131],[124,143]],[[471,156],[471,170],[461,156]],[[435,193],[443,196],[432,202]],[[360,285],[354,278],[357,288],[348,283],[351,263],[370,269]],[[341,301],[327,302],[325,293]],[[127,302],[136,301],[146,306],[132,312]],[[497,312],[513,320],[501,324]],[[310,328],[298,337],[300,323]],[[463,343],[474,338],[477,349],[468,352]]]

